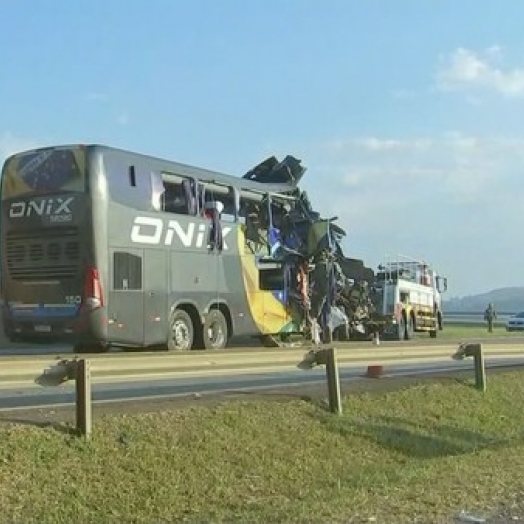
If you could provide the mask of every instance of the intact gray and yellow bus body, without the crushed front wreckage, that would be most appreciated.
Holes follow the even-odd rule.
[[[205,188],[205,200],[197,193],[189,206],[189,185]],[[227,323],[219,347],[233,335],[290,329],[281,301],[259,286],[256,256],[266,248],[246,248],[242,210],[268,194],[285,202],[295,186],[98,145],[14,155],[2,174],[6,335],[72,340],[78,350],[170,340],[176,349],[179,326],[182,339],[193,329],[191,346],[209,347],[212,312]],[[225,209],[213,222],[204,208],[216,202]]]

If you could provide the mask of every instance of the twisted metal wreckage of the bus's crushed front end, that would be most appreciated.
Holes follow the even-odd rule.
[[[246,210],[246,238],[260,242],[260,232],[267,231],[268,254],[258,257],[260,287],[280,292],[298,331],[314,343],[370,336],[381,325],[374,271],[344,255],[346,233],[337,218],[322,218],[298,187],[305,171],[290,155],[281,162],[273,156],[243,177],[287,186],[291,197],[282,203],[280,195],[268,194]],[[266,343],[268,338],[275,345],[282,341],[266,337]]]

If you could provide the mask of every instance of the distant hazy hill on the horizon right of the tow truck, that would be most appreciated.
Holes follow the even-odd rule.
[[[499,313],[524,311],[524,287],[505,287],[494,289],[480,295],[455,297],[444,300],[443,307],[449,312],[483,312],[493,302]]]

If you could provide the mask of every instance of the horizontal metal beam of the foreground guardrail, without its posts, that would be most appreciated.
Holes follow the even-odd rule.
[[[487,356],[524,356],[522,343],[484,344]],[[393,362],[430,362],[449,357],[456,343],[417,346],[337,347],[341,367],[360,367]],[[242,351],[234,353],[188,354],[106,354],[92,355],[90,360],[93,384],[155,381],[212,375],[250,375],[267,371],[296,369],[307,348],[279,351]],[[0,388],[38,387],[35,382],[45,369],[55,367],[60,357],[0,358]]]

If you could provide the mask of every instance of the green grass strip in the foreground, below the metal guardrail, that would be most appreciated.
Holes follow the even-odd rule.
[[[524,380],[0,425],[0,522],[451,522],[524,490]]]

